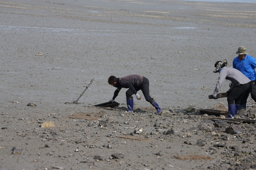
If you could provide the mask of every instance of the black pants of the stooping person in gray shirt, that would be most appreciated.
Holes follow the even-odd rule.
[[[243,85],[237,85],[233,91],[227,96],[227,103],[229,105],[240,105],[241,98],[244,96],[245,92],[248,90],[250,83],[246,83]]]

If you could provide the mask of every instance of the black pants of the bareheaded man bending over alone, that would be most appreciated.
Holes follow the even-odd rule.
[[[147,102],[150,102],[151,104],[154,103],[154,99],[149,95],[149,81],[146,77],[143,77],[143,81],[140,86],[136,86],[134,88],[136,91],[142,91]],[[125,94],[127,99],[132,99],[131,96],[134,94],[134,92],[129,88]]]

